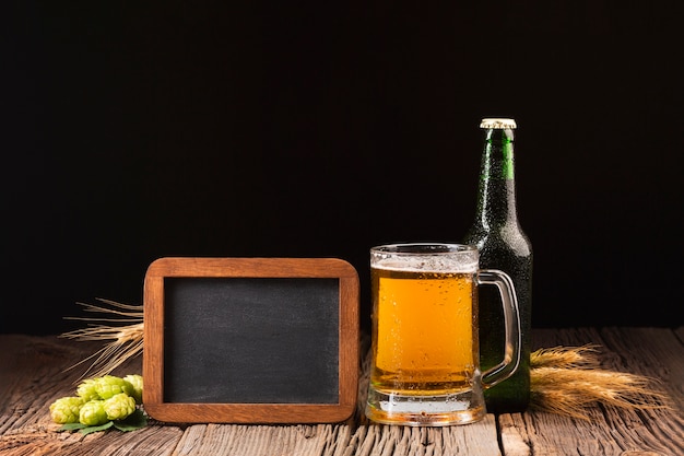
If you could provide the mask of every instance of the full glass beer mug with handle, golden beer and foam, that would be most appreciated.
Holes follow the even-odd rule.
[[[520,361],[520,321],[511,279],[479,269],[477,248],[396,244],[370,249],[373,365],[366,417],[385,424],[475,422],[483,389],[506,379]],[[502,362],[481,373],[477,285],[502,296]]]

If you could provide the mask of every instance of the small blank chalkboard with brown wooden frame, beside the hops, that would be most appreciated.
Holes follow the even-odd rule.
[[[358,277],[334,258],[162,258],[143,404],[166,422],[339,422],[356,407]]]

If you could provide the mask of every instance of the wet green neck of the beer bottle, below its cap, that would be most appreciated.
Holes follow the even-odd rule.
[[[518,223],[514,130],[486,130],[479,191],[477,219],[484,227]]]

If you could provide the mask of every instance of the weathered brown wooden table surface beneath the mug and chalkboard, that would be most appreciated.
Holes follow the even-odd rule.
[[[66,371],[99,346],[0,335],[0,455],[684,455],[684,327],[535,329],[533,349],[600,346],[604,369],[662,381],[670,409],[591,407],[589,420],[539,410],[487,414],[469,425],[386,426],[361,413],[320,425],[176,425],[122,433],[56,432],[48,406],[71,396],[82,371]],[[359,363],[359,365],[366,365]],[[363,367],[362,367],[363,369]],[[119,375],[141,373],[141,359]],[[359,402],[367,377],[362,373]]]

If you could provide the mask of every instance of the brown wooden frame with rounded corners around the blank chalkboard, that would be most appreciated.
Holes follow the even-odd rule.
[[[164,395],[165,279],[294,278],[339,280],[339,400],[337,404],[174,404]],[[143,404],[163,422],[334,423],[356,409],[358,384],[358,299],[356,270],[337,258],[186,258],[153,261],[144,280]],[[197,337],[201,337],[198,334]]]

